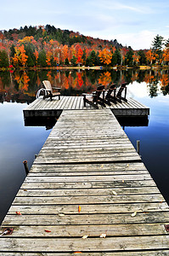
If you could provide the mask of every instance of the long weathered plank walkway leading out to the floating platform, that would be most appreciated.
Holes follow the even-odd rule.
[[[166,224],[169,207],[110,109],[63,110],[3,220],[14,232],[0,255],[169,255]]]

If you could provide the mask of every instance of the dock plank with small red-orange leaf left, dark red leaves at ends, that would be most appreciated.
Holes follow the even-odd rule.
[[[3,232],[4,228],[0,228]],[[50,230],[51,232],[45,232]],[[164,224],[99,224],[99,225],[19,225],[14,227],[16,237],[82,237],[85,234],[99,237],[109,236],[158,236],[167,235]],[[5,236],[11,237],[11,235]]]

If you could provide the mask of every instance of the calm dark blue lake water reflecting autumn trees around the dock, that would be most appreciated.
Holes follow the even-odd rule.
[[[62,87],[63,95],[82,95],[97,84],[127,82],[127,97],[150,108],[148,126],[125,126],[134,147],[169,203],[169,74],[168,71],[30,71],[0,73],[0,223],[25,179],[23,160],[32,165],[51,130],[25,126],[23,108],[34,101],[42,80]],[[124,124],[123,124],[124,125]]]

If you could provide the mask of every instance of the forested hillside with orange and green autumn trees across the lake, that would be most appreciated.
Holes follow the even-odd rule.
[[[169,39],[157,35],[150,49],[133,50],[117,40],[85,37],[54,26],[0,31],[0,69],[37,67],[168,66]]]

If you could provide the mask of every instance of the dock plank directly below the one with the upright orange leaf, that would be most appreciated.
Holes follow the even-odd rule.
[[[64,216],[63,216],[64,215]],[[46,214],[46,215],[7,215],[3,226],[17,225],[90,225],[90,224],[168,224],[168,212],[138,212],[135,217],[128,213],[115,214]],[[168,236],[169,237],[169,236]]]

